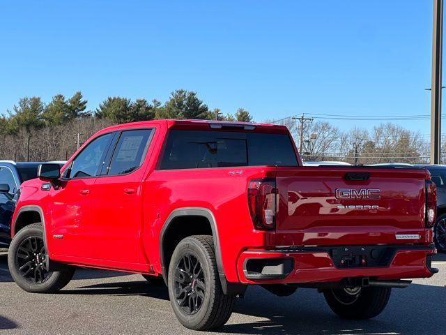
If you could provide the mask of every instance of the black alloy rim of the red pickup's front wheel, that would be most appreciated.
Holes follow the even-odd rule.
[[[22,241],[16,254],[20,275],[30,283],[44,283],[52,275],[45,268],[46,258],[43,238],[30,236]]]

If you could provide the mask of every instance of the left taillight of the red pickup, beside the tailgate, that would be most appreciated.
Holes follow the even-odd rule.
[[[254,228],[272,230],[276,227],[275,179],[254,179],[248,184],[248,206]]]

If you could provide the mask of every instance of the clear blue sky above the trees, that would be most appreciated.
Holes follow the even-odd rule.
[[[432,1],[1,1],[0,112],[197,91],[256,121],[429,114]],[[340,128],[379,121],[332,120]],[[429,120],[396,121],[429,133]]]

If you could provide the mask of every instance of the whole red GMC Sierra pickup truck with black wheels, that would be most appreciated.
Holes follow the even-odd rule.
[[[317,288],[373,318],[405,278],[436,273],[436,188],[419,169],[303,167],[284,126],[144,121],[93,135],[22,184],[8,262],[29,292],[76,266],[164,282],[178,320],[213,329],[247,285]]]

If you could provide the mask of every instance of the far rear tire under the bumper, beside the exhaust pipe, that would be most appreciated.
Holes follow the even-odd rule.
[[[356,288],[324,290],[323,295],[328,306],[341,318],[364,320],[384,310],[390,292],[390,288]]]

